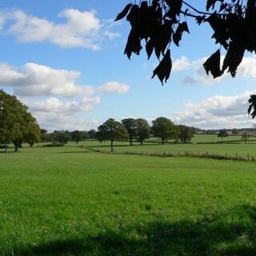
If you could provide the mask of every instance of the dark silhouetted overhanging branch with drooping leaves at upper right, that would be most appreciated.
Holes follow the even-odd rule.
[[[148,58],[154,52],[159,59],[152,78],[158,76],[162,84],[170,78],[170,48],[179,46],[182,35],[190,33],[188,18],[199,26],[208,23],[214,32],[212,38],[218,48],[203,64],[206,74],[213,78],[222,76],[226,70],[234,77],[246,50],[256,53],[256,0],[206,0],[206,10],[198,10],[183,0],[146,0],[138,4],[134,0],[115,20],[125,17],[131,29],[124,54],[129,59],[132,54],[139,55],[144,40]],[[222,66],[220,49],[226,51]],[[255,118],[256,95],[251,95],[249,102],[248,114]]]

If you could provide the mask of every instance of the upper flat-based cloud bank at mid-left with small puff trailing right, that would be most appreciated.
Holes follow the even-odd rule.
[[[56,70],[49,66],[26,63],[21,70],[0,64],[0,85],[11,86],[18,96],[64,96],[91,95],[96,92],[124,94],[130,87],[120,82],[107,82],[98,87],[76,83],[81,76],[78,71]]]

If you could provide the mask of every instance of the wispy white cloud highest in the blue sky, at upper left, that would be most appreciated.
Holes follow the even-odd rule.
[[[22,10],[2,12],[0,29],[5,28],[20,42],[51,42],[62,47],[84,47],[91,50],[99,50],[102,41],[120,36],[112,32],[108,22],[101,21],[94,10],[67,9],[58,17],[66,21],[54,23]],[[5,26],[7,23],[10,26]]]

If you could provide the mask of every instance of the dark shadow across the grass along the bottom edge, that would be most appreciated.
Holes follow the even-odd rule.
[[[230,218],[233,217],[233,218]],[[232,221],[231,221],[232,220]],[[25,246],[12,253],[34,255],[256,255],[256,208],[239,206],[234,213],[196,222],[150,222],[126,231],[69,238]],[[13,255],[13,254],[8,254]]]

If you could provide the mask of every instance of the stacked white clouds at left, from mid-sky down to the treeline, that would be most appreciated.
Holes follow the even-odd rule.
[[[125,94],[130,89],[121,82],[78,85],[76,81],[80,76],[78,71],[56,70],[35,63],[27,63],[18,70],[0,63],[0,87],[14,90],[39,125],[48,130],[97,128],[96,122],[86,120],[86,112],[94,110],[104,94]]]

